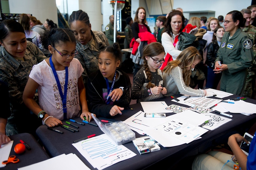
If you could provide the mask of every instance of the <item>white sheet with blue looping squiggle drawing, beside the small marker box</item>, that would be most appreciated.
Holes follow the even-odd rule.
[[[117,145],[106,134],[102,134],[72,145],[98,170],[136,156],[123,145]]]

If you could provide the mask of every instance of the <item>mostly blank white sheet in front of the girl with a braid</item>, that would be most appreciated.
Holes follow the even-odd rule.
[[[168,107],[168,105],[164,101],[140,102],[140,104],[145,113],[170,113],[169,110],[165,109],[166,107]]]

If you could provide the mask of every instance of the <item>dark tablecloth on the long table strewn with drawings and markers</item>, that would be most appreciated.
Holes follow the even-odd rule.
[[[234,97],[236,96],[233,95],[231,97],[224,98],[224,100],[229,98],[234,98]],[[175,102],[172,102],[171,100],[172,99],[170,97],[166,97],[166,98],[158,99],[155,101],[165,101],[167,105],[177,104]],[[256,104],[256,100],[252,100],[252,99],[247,99],[246,102]],[[98,119],[99,120],[104,119],[109,121],[124,121],[130,116],[137,113],[138,111],[140,110],[143,111],[141,104],[133,104],[130,106],[134,110],[130,110],[130,109],[123,110],[122,115],[116,115],[115,117],[113,117],[113,119],[106,119],[106,118],[98,118]],[[241,133],[244,133],[246,129],[248,130],[248,128],[253,123],[255,123],[256,115],[253,114],[250,116],[245,116],[242,114],[233,114],[233,118],[231,119],[232,121],[224,124],[223,126],[213,131],[209,130],[208,132],[203,134],[201,136],[202,139],[195,140],[188,144],[182,144],[174,147],[160,146],[161,148],[160,151],[156,151],[152,153],[139,155],[139,152],[133,145],[133,142],[125,143],[124,146],[130,149],[131,151],[133,151],[134,153],[136,153],[137,156],[125,161],[118,162],[105,169],[106,170],[107,169],[131,170],[131,169],[146,169],[146,168],[152,168],[152,167],[170,167],[172,164],[175,164],[176,162],[180,161],[182,158],[186,156],[196,155],[201,151],[204,152],[206,149],[209,149],[209,147],[212,144],[217,142],[216,140],[221,139],[221,141],[224,143],[226,142],[225,140],[227,140],[228,136],[231,135],[232,133],[239,132],[239,131],[241,131]],[[74,120],[82,122],[79,117],[74,118]],[[63,124],[66,124],[65,121],[66,120],[62,121]],[[93,121],[93,123],[95,122]],[[103,134],[103,132],[100,130],[99,127],[95,127],[89,124],[85,124],[85,126],[82,126],[82,125],[78,125],[78,126],[79,126],[79,132],[75,132],[75,133],[67,131],[61,127],[56,127],[56,129],[64,132],[64,134],[59,134],[59,133],[48,130],[46,125],[42,125],[36,130],[36,134],[44,144],[50,156],[55,157],[63,153],[65,154],[75,153],[89,168],[94,169],[92,165],[76,150],[76,148],[72,145],[72,143],[73,141],[81,139],[88,135],[92,135],[92,134],[100,135],[100,134]],[[142,136],[142,135],[139,135],[137,132],[135,133],[136,133],[136,138]]]

